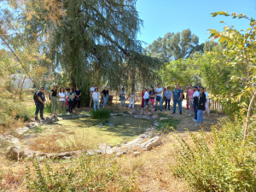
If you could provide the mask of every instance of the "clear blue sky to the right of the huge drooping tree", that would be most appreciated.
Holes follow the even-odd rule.
[[[207,29],[221,31],[226,23],[236,29],[247,29],[249,21],[231,17],[210,15],[212,12],[236,12],[256,19],[256,0],[137,0],[137,11],[144,20],[139,40],[151,44],[167,32],[181,32],[190,29],[199,37],[199,42],[207,41]],[[224,23],[219,23],[223,20]]]

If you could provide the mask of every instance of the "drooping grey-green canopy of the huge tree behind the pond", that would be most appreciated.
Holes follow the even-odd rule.
[[[35,40],[33,32],[51,33],[42,49],[73,84],[88,90],[89,83],[97,81],[118,89],[131,80],[134,89],[136,80],[146,84],[157,78],[161,62],[143,55],[142,42],[137,40],[143,20],[136,0],[62,0],[58,7],[65,15],[57,22],[45,20],[45,10],[35,5],[30,9],[41,16],[26,21],[27,37]]]

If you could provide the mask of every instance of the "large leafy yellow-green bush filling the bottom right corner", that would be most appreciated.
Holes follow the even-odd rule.
[[[252,124],[253,127],[254,124]],[[251,127],[251,129],[253,128]],[[189,133],[193,144],[176,137],[172,172],[197,191],[255,191],[255,137],[243,143],[243,121],[222,119],[209,135]]]

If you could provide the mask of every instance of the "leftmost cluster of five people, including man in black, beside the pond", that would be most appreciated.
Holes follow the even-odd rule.
[[[63,87],[58,91],[57,85],[54,85],[53,89],[50,90],[49,101],[51,102],[51,113],[56,113],[59,106],[59,114],[62,115],[62,112],[66,113],[66,108],[68,107],[68,113],[73,114],[73,109],[75,108],[76,103],[78,102],[78,108],[80,108],[80,96],[81,90],[79,87],[76,87],[76,90],[73,90],[72,87],[67,88],[66,91]],[[44,104],[46,102],[44,87],[40,89],[34,95],[34,102],[36,104],[36,113],[35,120],[38,120],[38,113],[40,111],[40,118],[44,120]],[[67,113],[67,114],[68,114]]]

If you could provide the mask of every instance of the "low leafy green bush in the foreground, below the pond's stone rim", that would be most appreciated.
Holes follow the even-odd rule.
[[[82,154],[67,166],[60,162],[56,168],[45,160],[39,166],[32,160],[36,177],[30,166],[26,166],[26,188],[29,191],[134,191],[136,169],[134,172],[125,170],[127,177],[122,177],[121,164],[113,156],[89,156]]]

